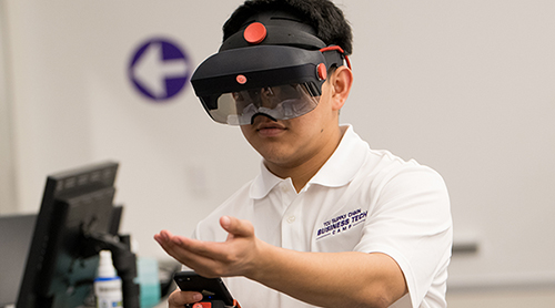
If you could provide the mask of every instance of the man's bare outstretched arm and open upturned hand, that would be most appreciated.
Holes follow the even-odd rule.
[[[387,307],[406,294],[398,265],[384,254],[302,253],[254,236],[252,224],[224,216],[224,243],[155,236],[172,257],[205,277],[244,276],[321,307]],[[239,298],[239,300],[241,300]]]

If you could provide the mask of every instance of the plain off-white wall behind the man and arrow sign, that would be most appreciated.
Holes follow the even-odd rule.
[[[161,228],[190,234],[259,168],[238,129],[188,88],[152,103],[127,66],[147,39],[216,51],[242,1],[7,1],[18,207],[49,173],[121,162],[123,228],[164,257]],[[555,2],[336,1],[354,29],[355,85],[342,120],[374,148],[436,168],[452,195],[453,288],[555,285]],[[0,208],[2,206],[0,205]]]

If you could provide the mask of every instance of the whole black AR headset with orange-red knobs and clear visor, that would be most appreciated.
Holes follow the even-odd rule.
[[[191,78],[196,96],[219,123],[252,124],[258,115],[289,120],[314,110],[332,66],[346,60],[315,30],[281,11],[249,19]]]

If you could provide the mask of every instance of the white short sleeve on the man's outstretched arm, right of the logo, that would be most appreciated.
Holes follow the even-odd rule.
[[[453,236],[450,198],[440,174],[415,163],[398,166],[376,178],[369,202],[369,219],[355,250],[391,256],[405,276],[412,307],[421,307],[426,295],[444,300],[437,287],[445,288]]]

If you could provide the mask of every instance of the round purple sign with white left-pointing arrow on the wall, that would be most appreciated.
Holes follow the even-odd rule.
[[[152,39],[134,52],[129,78],[141,94],[164,101],[183,90],[190,78],[189,66],[186,53],[176,43]]]

